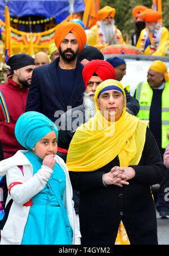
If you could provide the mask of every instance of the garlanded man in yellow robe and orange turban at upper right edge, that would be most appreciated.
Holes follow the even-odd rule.
[[[141,31],[136,47],[141,49],[143,54],[165,56],[169,33],[159,22],[162,14],[148,8],[141,12],[140,16],[145,20],[146,27]]]

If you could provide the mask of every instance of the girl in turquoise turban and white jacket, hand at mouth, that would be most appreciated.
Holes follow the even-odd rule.
[[[56,156],[55,123],[41,113],[26,112],[16,122],[15,135],[27,150],[0,163],[1,176],[7,179],[7,204],[12,200],[1,244],[79,244],[68,169]]]

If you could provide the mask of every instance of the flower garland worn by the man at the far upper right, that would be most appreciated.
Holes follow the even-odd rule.
[[[162,23],[157,23],[157,27],[155,27],[154,31],[153,31],[153,37],[152,37],[152,41],[150,42],[150,54],[153,54],[157,48],[158,48],[158,44],[159,44],[159,38],[157,36],[159,29],[162,28]],[[141,39],[140,42],[140,50],[144,53],[144,48],[145,48],[145,42],[146,39],[148,39],[148,28],[145,28],[145,33],[143,35],[143,38]]]

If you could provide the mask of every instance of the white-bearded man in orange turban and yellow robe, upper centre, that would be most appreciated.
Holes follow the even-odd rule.
[[[122,33],[114,25],[115,9],[105,6],[98,11],[99,22],[91,28],[97,35],[96,45],[125,44]]]

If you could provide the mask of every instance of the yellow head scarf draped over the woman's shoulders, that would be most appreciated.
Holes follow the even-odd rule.
[[[117,122],[106,121],[96,101],[99,92],[109,86],[120,88],[125,96],[123,113]],[[140,121],[126,112],[122,84],[113,79],[105,80],[96,88],[94,100],[97,113],[75,132],[67,155],[68,169],[74,172],[94,171],[110,163],[117,155],[121,167],[139,164],[148,121]]]

